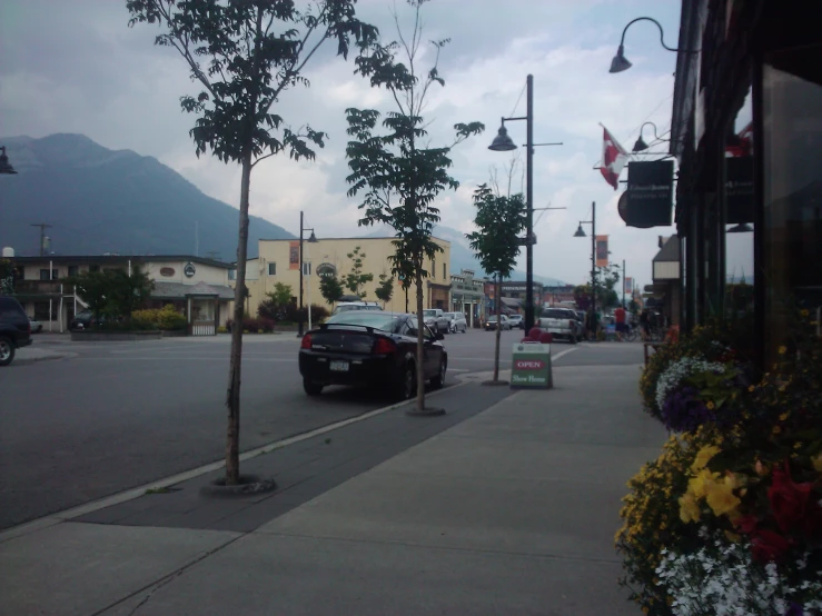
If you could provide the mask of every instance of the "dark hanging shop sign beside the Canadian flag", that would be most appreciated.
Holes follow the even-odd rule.
[[[674,161],[628,165],[628,189],[617,209],[628,227],[670,227],[674,199]]]

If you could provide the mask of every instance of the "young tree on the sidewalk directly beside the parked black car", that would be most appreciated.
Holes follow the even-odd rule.
[[[417,58],[423,31],[420,8],[425,0],[408,0],[414,10],[410,38],[403,36],[399,18],[395,14],[399,42],[375,48],[374,52],[357,58],[357,71],[370,78],[372,86],[384,87],[392,93],[396,108],[382,120],[374,109],[348,109],[348,142],[346,153],[351,173],[348,196],[364,193],[359,208],[365,210],[359,225],[385,223],[395,231],[395,254],[389,257],[392,274],[417,289],[417,357],[423,357],[425,321],[423,319],[423,280],[425,259],[434,259],[442,249],[432,238],[439,221],[434,199],[445,189],[459,186],[448,175],[452,165],[448,155],[454,146],[485,128],[479,122],[458,123],[454,141],[432,148],[422,112],[434,83],[444,86],[437,62],[447,40],[433,42],[434,62],[420,78]],[[416,411],[425,411],[425,372],[423,362],[416,362]]]

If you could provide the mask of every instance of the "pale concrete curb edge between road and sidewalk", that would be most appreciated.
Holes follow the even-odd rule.
[[[437,396],[444,391],[450,391],[452,389],[457,389],[465,385],[469,385],[471,382],[472,381],[469,380],[459,381],[459,382],[456,382],[455,385],[452,385],[450,387],[444,387],[443,389],[437,389],[436,391],[426,394],[425,397],[427,399],[432,396]],[[348,419],[343,419],[341,421],[336,421],[334,424],[328,424],[327,426],[315,428],[314,430],[310,430],[307,433],[301,433],[301,434],[294,435],[294,436],[290,436],[290,437],[287,437],[280,440],[271,441],[267,445],[263,445],[261,447],[257,447],[256,449],[251,449],[249,451],[245,451],[240,454],[240,461],[246,461],[257,456],[261,456],[264,454],[274,451],[275,449],[287,447],[288,445],[294,445],[295,443],[300,443],[303,440],[314,438],[315,436],[319,436],[326,433],[337,430],[350,424],[358,424],[359,421],[365,421],[366,419],[370,419],[372,417],[376,417],[377,415],[383,415],[384,413],[400,408],[408,404],[414,404],[414,400],[412,399],[412,400],[404,400],[402,403],[395,403],[393,405],[389,405],[383,408],[369,410],[356,417],[349,417]],[[148,489],[168,488],[176,484],[181,484],[182,481],[187,481],[189,479],[194,479],[196,477],[207,475],[208,473],[212,473],[215,470],[219,470],[220,468],[225,468],[225,466],[226,466],[226,460],[220,459],[220,460],[206,464],[197,468],[192,468],[190,470],[184,470],[182,473],[178,473],[177,475],[164,477],[161,479],[157,479],[155,481],[150,481],[148,484],[143,484],[135,488],[130,488],[130,489],[127,489],[127,490],[123,490],[117,494],[112,494],[110,496],[105,496],[102,498],[98,498],[97,500],[92,500],[90,503],[85,503],[76,507],[70,507],[61,511],[55,511],[53,514],[48,514],[48,515],[41,516],[39,518],[34,518],[29,521],[24,521],[17,526],[11,526],[9,528],[0,530],[0,544],[14,539],[17,537],[22,537],[23,535],[29,535],[30,533],[37,533],[38,530],[42,530],[50,526],[56,526],[63,521],[70,521],[73,518],[85,516],[86,514],[90,514],[92,511],[105,509],[106,507],[111,507],[112,505],[119,505],[121,503],[135,500],[136,498],[143,496],[146,494],[146,490]]]

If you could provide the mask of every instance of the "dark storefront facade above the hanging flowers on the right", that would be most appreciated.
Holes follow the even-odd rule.
[[[762,365],[822,306],[822,31],[810,3],[684,1],[672,116],[682,319],[749,319]],[[819,320],[819,319],[818,319]]]

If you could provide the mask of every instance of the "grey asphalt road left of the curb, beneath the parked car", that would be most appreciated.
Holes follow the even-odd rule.
[[[501,368],[521,331],[504,331]],[[221,459],[229,339],[36,345],[76,357],[0,369],[0,528]],[[493,369],[494,335],[449,335],[446,384]],[[296,337],[245,338],[241,449],[389,404],[333,387],[308,398]],[[565,354],[564,351],[568,351]],[[557,366],[640,364],[637,344],[554,345]],[[561,356],[562,354],[562,356]]]

